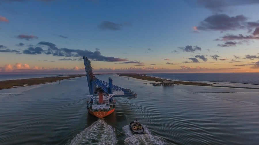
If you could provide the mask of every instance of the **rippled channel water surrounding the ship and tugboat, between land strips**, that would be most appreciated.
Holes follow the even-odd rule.
[[[87,112],[85,77],[0,90],[0,144],[254,144],[259,142],[259,93],[253,89],[152,86],[149,81],[98,75],[134,91],[117,97],[100,120]],[[144,85],[143,83],[148,83]],[[251,92],[208,93],[193,92]],[[7,93],[7,94],[3,94]],[[138,118],[147,131],[132,135]]]

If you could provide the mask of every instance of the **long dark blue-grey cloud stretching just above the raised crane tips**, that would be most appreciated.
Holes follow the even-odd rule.
[[[96,61],[108,61],[108,62],[128,61],[127,59],[123,59],[123,58],[102,56],[101,52],[98,50],[96,50],[95,52],[92,52],[89,50],[57,48],[55,44],[50,42],[39,42],[38,44],[43,46],[48,46],[48,49],[44,50],[44,53],[52,54],[53,56],[83,57],[85,55],[87,58],[90,58]]]

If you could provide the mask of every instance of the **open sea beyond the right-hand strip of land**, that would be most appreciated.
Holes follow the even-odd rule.
[[[259,85],[259,73],[161,73],[148,76],[178,81],[232,82]]]

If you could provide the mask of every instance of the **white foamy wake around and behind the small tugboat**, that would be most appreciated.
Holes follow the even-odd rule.
[[[124,140],[125,144],[128,145],[138,145],[138,144],[157,144],[157,145],[164,145],[166,144],[163,138],[152,136],[151,132],[148,130],[147,126],[142,125],[145,134],[134,134],[129,129],[129,125],[124,126],[122,129],[125,132],[125,135],[128,137]]]

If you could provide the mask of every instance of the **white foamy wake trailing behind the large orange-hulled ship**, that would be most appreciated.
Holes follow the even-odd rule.
[[[98,120],[77,134],[77,136],[71,140],[70,144],[112,145],[117,144],[117,142],[115,129],[104,120]]]

